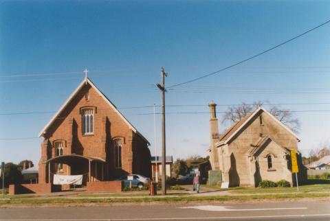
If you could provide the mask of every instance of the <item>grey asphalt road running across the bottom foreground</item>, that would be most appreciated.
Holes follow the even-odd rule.
[[[330,202],[0,208],[4,220],[330,220]]]

